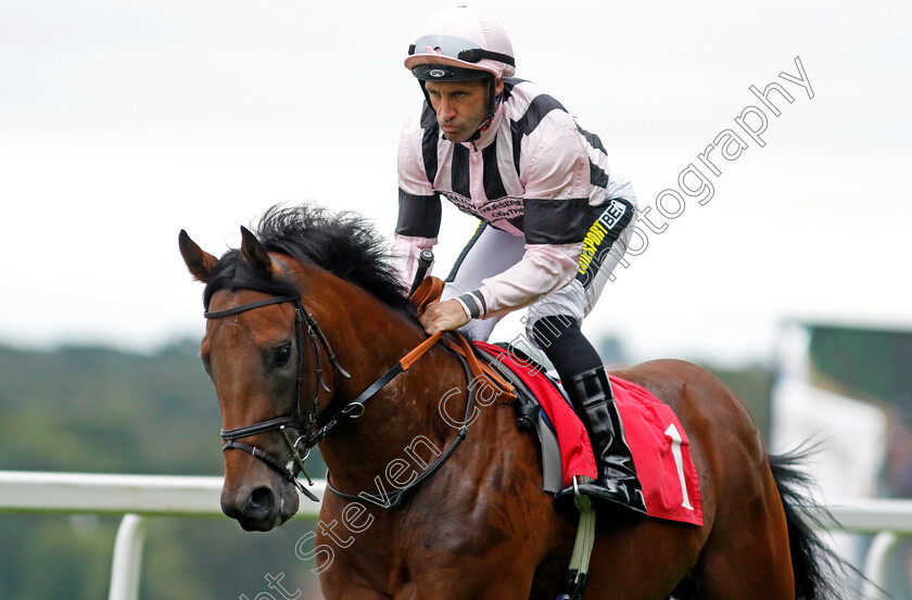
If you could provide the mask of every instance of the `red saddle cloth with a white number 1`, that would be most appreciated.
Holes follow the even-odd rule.
[[[498,358],[532,392],[554,424],[560,446],[563,485],[574,475],[596,477],[595,457],[588,435],[577,413],[554,383],[499,346],[474,344]],[[667,404],[635,383],[608,375],[624,425],[649,516],[702,525],[697,469],[691,443],[677,417]]]

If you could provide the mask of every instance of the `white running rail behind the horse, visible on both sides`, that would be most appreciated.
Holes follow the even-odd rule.
[[[314,483],[312,489],[321,499],[326,482]],[[221,477],[0,471],[0,512],[124,515],[114,542],[109,600],[138,599],[150,519],[221,516],[220,492]],[[828,510],[843,529],[875,536],[862,571],[883,587],[890,552],[900,539],[912,536],[912,500],[853,500]],[[313,519],[318,513],[319,505],[307,501],[301,502],[297,516]],[[864,591],[864,598],[879,593],[874,586]]]

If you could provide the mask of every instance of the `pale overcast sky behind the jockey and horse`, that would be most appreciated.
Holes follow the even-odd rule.
[[[391,235],[398,130],[421,100],[402,60],[452,5],[4,0],[0,343],[199,337],[181,228],[221,254],[269,205],[316,201]],[[644,229],[592,335],[635,359],[740,361],[769,359],[788,318],[912,328],[908,2],[473,5],[667,226]],[[773,81],[794,98],[771,93],[780,116],[749,90]],[[747,110],[760,128],[751,106],[762,146],[736,123]],[[699,155],[726,130],[746,148],[710,152],[714,174]],[[679,182],[692,163],[713,188],[705,205]],[[674,196],[657,206],[667,189],[685,199],[674,218],[659,214],[681,210]],[[445,208],[441,271],[473,226]]]

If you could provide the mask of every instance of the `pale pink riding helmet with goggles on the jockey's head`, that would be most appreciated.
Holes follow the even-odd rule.
[[[483,71],[497,78],[516,73],[512,44],[504,27],[468,7],[459,5],[441,14],[423,31],[405,59],[405,67],[419,79],[466,79],[469,74],[465,69]]]

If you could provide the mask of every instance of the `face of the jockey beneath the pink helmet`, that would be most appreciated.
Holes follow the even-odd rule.
[[[497,79],[495,93],[504,89]],[[464,142],[487,118],[487,79],[427,81],[425,89],[436,112],[438,124],[451,142]]]

